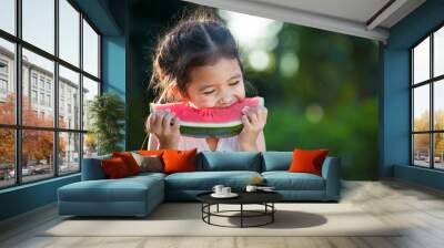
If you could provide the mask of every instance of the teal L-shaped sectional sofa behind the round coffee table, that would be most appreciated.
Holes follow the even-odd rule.
[[[195,200],[214,185],[243,190],[255,176],[284,196],[286,202],[339,202],[341,163],[326,157],[322,176],[289,173],[292,152],[202,152],[196,172],[141,173],[107,179],[100,165],[110,155],[83,159],[82,180],[58,189],[60,215],[145,216],[164,200]]]

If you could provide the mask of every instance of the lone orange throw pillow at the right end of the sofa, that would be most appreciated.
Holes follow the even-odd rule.
[[[291,173],[312,173],[322,176],[322,164],[329,149],[294,149],[293,162],[290,165]]]

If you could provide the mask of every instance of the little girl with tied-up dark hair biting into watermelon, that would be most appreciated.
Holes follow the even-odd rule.
[[[160,90],[158,103],[182,101],[192,107],[230,106],[245,97],[243,69],[230,31],[215,20],[179,23],[159,42],[150,86]],[[243,130],[233,137],[190,137],[180,134],[171,112],[150,114],[149,149],[265,151],[266,108],[243,110]]]

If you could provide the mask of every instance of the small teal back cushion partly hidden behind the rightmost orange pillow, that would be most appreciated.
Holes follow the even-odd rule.
[[[287,170],[292,161],[292,152],[262,152],[262,172]]]

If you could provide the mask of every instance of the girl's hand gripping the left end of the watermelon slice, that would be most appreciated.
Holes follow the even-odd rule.
[[[179,118],[169,111],[158,111],[148,116],[147,132],[159,140],[159,149],[176,149],[179,146]]]

